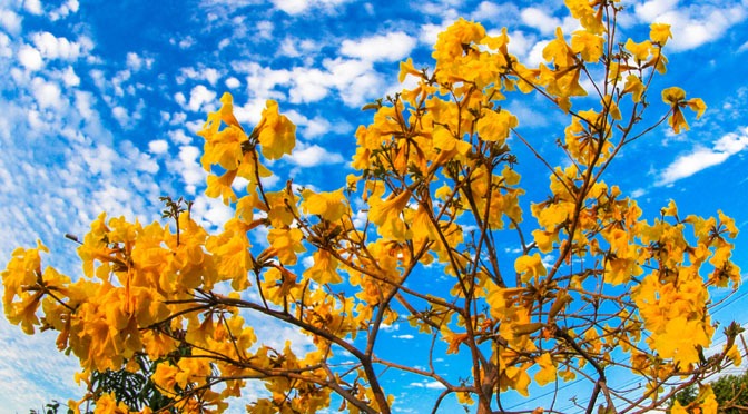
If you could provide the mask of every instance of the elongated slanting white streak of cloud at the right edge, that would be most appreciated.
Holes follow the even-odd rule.
[[[727,134],[718,139],[712,148],[696,148],[689,154],[678,157],[660,175],[658,186],[672,184],[681,178],[690,177],[706,168],[725,162],[729,157],[748,147],[748,127],[739,134]]]

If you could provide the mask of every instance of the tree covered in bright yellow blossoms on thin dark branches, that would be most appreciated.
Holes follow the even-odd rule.
[[[58,348],[80,359],[79,379],[89,384],[97,372],[137,371],[134,362],[147,356],[170,401],[160,410],[183,412],[222,412],[247,382],[262,382],[267,396],[249,412],[339,404],[390,413],[394,397],[380,381],[387,369],[439,382],[433,412],[445,397],[505,412],[508,390],[528,396],[535,385],[579,379],[590,384],[575,400],[580,410],[647,412],[739,364],[737,325],[720,352],[703,353],[715,335],[709,290],[739,280],[734,221],[721,213],[683,217],[670,203],[649,223],[602,180],[628,144],[666,121],[687,129],[683,110],[706,109],[671,87],[661,91],[669,110],[644,117],[651,81],[666,72],[669,27],[623,40],[616,1],[565,3],[581,29],[570,37],[557,29],[537,68],[509,52],[505,29],[489,36],[465,20],[439,36],[433,70],[402,62],[401,82],[412,77],[417,86],[364,108],[374,117],[355,134],[357,175],[335,191],[291,181],[266,188],[265,161],[292,154],[295,126],[268,101],[259,124],[245,128],[224,95],[198,132],[206,195],[235,211],[224,228],[200,227],[181,199],[165,199],[165,224],[101,215],[78,248],[78,278],[42,267],[41,244],[13,252],[2,273],[6,316],[28,334],[58,331]],[[568,117],[558,154],[542,154],[502,108],[515,93],[539,95]],[[594,106],[575,109],[575,97]],[[550,177],[548,197],[530,207],[532,231],[522,224],[510,137]],[[565,167],[550,161],[559,155]],[[236,177],[248,181],[246,191],[234,190]],[[253,246],[254,235],[266,243]],[[518,253],[499,240],[515,240]],[[435,273],[450,286],[429,283]],[[313,349],[263,343],[245,322],[252,314],[308,335]],[[432,343],[426,367],[380,352],[385,324],[405,321]],[[460,361],[459,375],[445,374],[451,361]],[[611,372],[646,386],[627,390],[608,379]],[[97,412],[128,410],[121,396],[92,386],[70,405],[83,402]],[[716,405],[702,386],[672,412]],[[543,411],[558,408],[535,410]]]

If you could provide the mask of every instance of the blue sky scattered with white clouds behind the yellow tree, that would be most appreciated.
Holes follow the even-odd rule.
[[[604,179],[634,196],[648,217],[673,198],[682,213],[721,208],[745,233],[748,1],[622,4],[624,36],[641,38],[656,21],[672,24],[669,73],[656,88],[683,86],[709,109],[698,121],[689,118],[689,132],[661,128],[627,147]],[[557,26],[565,33],[577,28],[560,0],[0,0],[0,263],[40,238],[53,252],[51,264],[75,275],[65,233],[82,235],[102,210],[158,219],[161,195],[195,199],[200,223],[223,224],[230,210],[201,195],[195,131],[224,91],[246,125],[259,119],[266,99],[297,124],[297,150],[273,166],[279,181],[343,186],[353,131],[371,115],[361,106],[397,90],[398,61],[410,56],[416,67],[431,65],[436,33],[459,17],[489,30],[506,26],[510,51],[535,65]],[[540,101],[506,106],[541,150],[562,135],[563,118]],[[529,186],[525,205],[533,195],[542,199],[548,179],[540,165],[525,157],[518,168]],[[748,237],[739,237],[736,255],[748,269]],[[716,316],[748,323],[737,302]],[[278,327],[262,334],[275,343],[294,335]],[[386,352],[427,346],[398,325],[388,334]],[[28,412],[77,395],[75,361],[53,349],[51,335],[28,337],[0,322],[2,410]],[[429,382],[390,381],[400,382],[400,396],[440,392]],[[406,403],[396,408],[417,411]]]

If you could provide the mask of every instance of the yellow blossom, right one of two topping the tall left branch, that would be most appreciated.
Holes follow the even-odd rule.
[[[265,158],[280,159],[284,154],[291,155],[296,146],[296,126],[278,112],[278,102],[270,99],[265,103],[259,125],[258,139]]]

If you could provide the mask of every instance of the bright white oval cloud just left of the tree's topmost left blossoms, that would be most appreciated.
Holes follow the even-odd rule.
[[[395,31],[360,40],[344,40],[341,53],[367,61],[396,61],[407,57],[414,47],[414,38]]]

